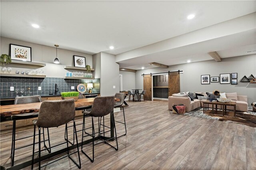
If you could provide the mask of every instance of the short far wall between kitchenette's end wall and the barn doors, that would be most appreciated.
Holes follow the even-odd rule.
[[[135,89],[135,72],[119,71],[119,74],[122,75],[123,79],[123,91]]]

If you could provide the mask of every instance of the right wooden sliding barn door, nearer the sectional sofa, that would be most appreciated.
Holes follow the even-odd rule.
[[[180,74],[179,73],[170,73],[168,78],[169,83],[169,96],[172,96],[174,93],[180,93]]]

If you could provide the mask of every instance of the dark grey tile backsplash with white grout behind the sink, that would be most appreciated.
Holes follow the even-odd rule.
[[[55,83],[58,84],[58,94],[64,91],[77,91],[78,84],[93,83],[92,93],[100,93],[100,79],[64,79],[55,77],[46,78],[32,78],[32,77],[0,77],[0,98],[11,98],[16,96],[15,91],[10,91],[10,87],[25,89],[24,96],[28,95],[28,88],[30,88],[31,95],[49,95],[54,94]],[[74,86],[75,89],[71,89]],[[41,90],[38,90],[41,87]],[[21,96],[21,93],[18,93]]]

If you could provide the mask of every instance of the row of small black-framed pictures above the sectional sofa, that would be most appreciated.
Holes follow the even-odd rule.
[[[232,84],[237,85],[237,73],[223,73],[220,76],[210,77],[209,74],[201,75],[201,84],[220,83],[220,84]]]

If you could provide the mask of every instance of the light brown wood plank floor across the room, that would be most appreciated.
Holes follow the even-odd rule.
[[[256,170],[256,128],[174,115],[168,111],[168,101],[128,102],[128,104],[129,107],[124,108],[128,132],[126,136],[118,138],[118,151],[106,144],[96,145],[94,163],[80,152],[82,169]],[[115,119],[122,120],[122,111],[115,113]],[[90,118],[86,118],[86,122],[89,121]],[[109,123],[108,118],[105,121]],[[82,119],[76,121],[76,123],[81,122]],[[116,126],[118,134],[124,133],[123,125]],[[77,128],[79,130],[82,126]],[[70,138],[72,138],[71,131],[70,128]],[[32,132],[30,128],[17,132],[17,136],[26,136]],[[81,136],[82,133],[78,132],[78,141],[81,141]],[[51,128],[50,139],[52,145],[64,141],[64,126]],[[32,142],[32,138],[19,141],[16,145],[30,141]],[[115,142],[111,143],[115,144]],[[88,154],[92,153],[90,146],[90,144],[85,146]],[[10,167],[10,149],[11,133],[1,134],[0,162],[6,167]],[[30,160],[31,154],[32,147],[16,150],[15,164]],[[72,155],[72,157],[77,160],[78,156]],[[43,163],[45,162],[47,161]],[[42,169],[78,168],[71,160],[64,158]]]

